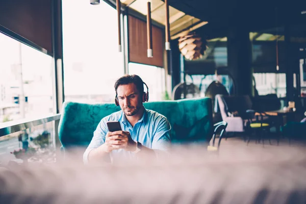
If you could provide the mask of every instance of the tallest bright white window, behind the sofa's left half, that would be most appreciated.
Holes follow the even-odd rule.
[[[124,73],[116,10],[83,0],[62,1],[62,8],[65,100],[113,101],[115,81]]]

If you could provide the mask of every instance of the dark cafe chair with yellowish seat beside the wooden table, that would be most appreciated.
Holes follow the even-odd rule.
[[[252,133],[254,133],[256,138],[256,143],[260,142],[261,139],[264,146],[264,132],[270,131],[269,120],[264,119],[264,117],[266,116],[265,112],[249,109],[246,111],[246,114],[247,114],[247,121],[245,125],[245,131],[248,134],[247,145],[250,141]],[[270,145],[272,144],[270,138],[269,138],[269,143]]]

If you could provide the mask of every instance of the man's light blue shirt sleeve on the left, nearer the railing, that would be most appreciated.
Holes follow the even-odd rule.
[[[106,137],[107,132],[108,132],[108,129],[106,125],[106,118],[103,118],[99,122],[96,130],[93,132],[93,137],[91,139],[91,142],[83,154],[83,162],[85,164],[88,163],[89,152],[105,143],[105,137]]]

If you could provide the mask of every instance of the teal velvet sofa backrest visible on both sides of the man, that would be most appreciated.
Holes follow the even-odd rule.
[[[172,143],[210,141],[213,134],[211,99],[192,98],[144,103],[146,109],[166,116],[171,124]],[[59,124],[63,148],[87,147],[99,121],[119,111],[115,104],[65,102]]]

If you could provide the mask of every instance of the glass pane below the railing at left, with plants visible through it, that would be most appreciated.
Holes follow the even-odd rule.
[[[0,164],[55,162],[54,138],[53,122],[0,137]]]

